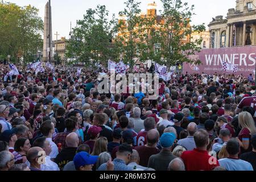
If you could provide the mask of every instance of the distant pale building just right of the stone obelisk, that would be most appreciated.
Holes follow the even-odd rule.
[[[55,55],[60,57],[61,65],[65,65],[67,59],[65,57],[66,47],[68,40],[62,37],[60,40],[53,40]]]

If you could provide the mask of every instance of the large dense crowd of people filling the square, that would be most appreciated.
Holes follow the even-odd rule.
[[[252,75],[173,73],[151,100],[100,94],[100,70],[0,67],[1,171],[256,170]]]

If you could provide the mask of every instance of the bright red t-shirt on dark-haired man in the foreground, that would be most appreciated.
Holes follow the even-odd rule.
[[[220,166],[214,156],[210,156],[207,151],[196,148],[184,151],[180,158],[183,159],[186,171],[211,171],[213,168]]]

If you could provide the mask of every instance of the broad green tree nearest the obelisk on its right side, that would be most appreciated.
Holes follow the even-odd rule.
[[[118,47],[113,46],[112,40],[117,31],[117,20],[113,16],[109,21],[108,16],[105,6],[87,10],[84,19],[78,20],[78,26],[73,28],[66,56],[85,63],[86,67],[98,63],[106,65],[110,57],[116,57]]]

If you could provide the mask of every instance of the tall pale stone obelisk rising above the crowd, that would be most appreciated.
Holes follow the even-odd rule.
[[[47,61],[53,61],[52,54],[52,9],[51,0],[46,3],[44,9],[44,50],[43,50],[43,64]]]

